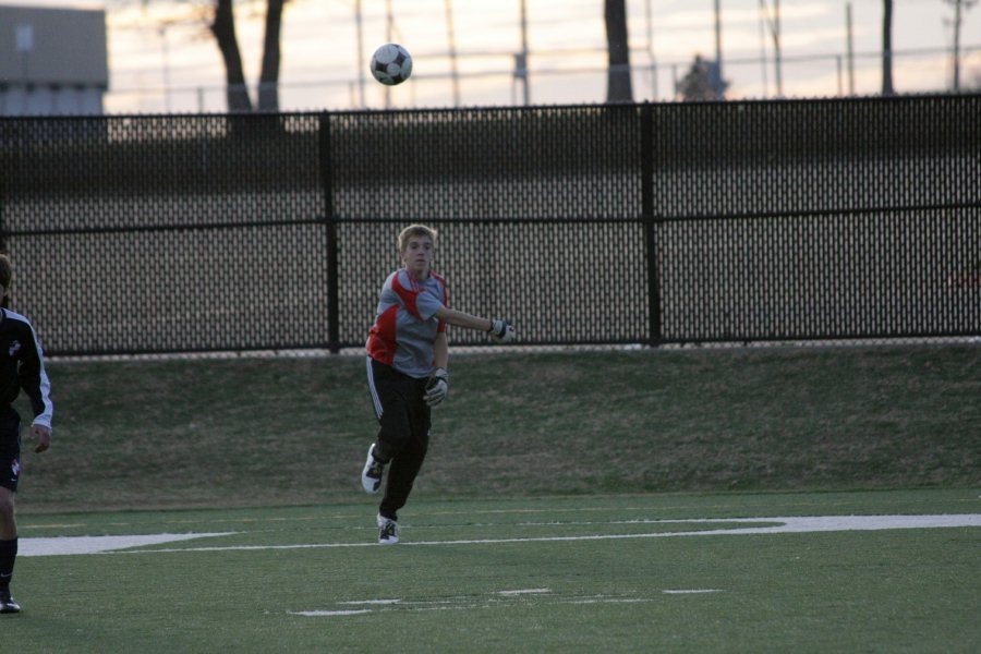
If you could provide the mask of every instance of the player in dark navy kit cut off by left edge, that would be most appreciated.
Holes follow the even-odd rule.
[[[21,390],[31,400],[34,421],[31,437],[35,452],[51,446],[51,385],[45,373],[45,356],[31,322],[7,308],[13,267],[0,254],[0,614],[21,607],[10,594],[17,558],[17,522],[14,493],[21,476],[21,416],[11,405]]]

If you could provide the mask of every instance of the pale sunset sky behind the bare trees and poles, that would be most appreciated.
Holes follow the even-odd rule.
[[[107,10],[110,89],[108,112],[222,111],[223,69],[204,19],[210,2],[172,0],[0,0],[3,4]],[[724,76],[728,97],[773,97],[773,41],[761,7],[774,0],[722,0]],[[843,0],[783,0],[783,95],[847,93],[846,4]],[[857,94],[881,87],[881,0],[852,0]],[[283,15],[280,104],[284,110],[362,106],[441,107],[453,104],[446,0],[361,0],[363,45],[358,48],[355,0],[291,0]],[[388,38],[414,57],[413,78],[391,89],[362,75],[371,51]],[[463,106],[511,105],[513,55],[521,49],[520,0],[452,0],[459,99]],[[262,57],[265,4],[237,9],[246,77],[255,84]],[[671,99],[675,81],[697,53],[715,56],[714,2],[628,0],[634,99]],[[533,104],[602,102],[605,99],[603,0],[526,0]],[[649,20],[650,17],[650,20]],[[896,0],[893,47],[897,92],[935,92],[949,85],[954,8],[943,0]],[[765,37],[765,52],[763,50]],[[961,84],[981,86],[981,7],[964,14]],[[765,68],[761,58],[768,61]],[[653,68],[656,66],[656,68]],[[654,72],[656,71],[656,73]],[[363,80],[363,85],[361,83]],[[254,95],[254,94],[253,94]]]

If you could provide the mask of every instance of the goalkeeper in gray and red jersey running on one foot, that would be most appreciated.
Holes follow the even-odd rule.
[[[375,325],[367,340],[368,389],[380,424],[361,472],[367,493],[377,493],[388,470],[378,507],[378,543],[399,542],[398,510],[422,467],[429,445],[429,409],[449,388],[446,326],[487,331],[499,342],[514,340],[507,320],[481,318],[449,308],[446,280],[433,271],[436,232],[422,225],[399,234],[403,268],[385,280]]]

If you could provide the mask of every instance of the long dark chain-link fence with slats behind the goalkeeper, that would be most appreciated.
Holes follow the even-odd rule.
[[[979,336],[978,124],[978,95],[4,118],[0,237],[55,355],[360,347],[412,222],[526,346]]]

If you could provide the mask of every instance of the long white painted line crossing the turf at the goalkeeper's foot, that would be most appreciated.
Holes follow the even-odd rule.
[[[531,536],[516,538],[473,538],[457,541],[402,541],[400,547],[426,547],[439,545],[495,545],[506,543],[552,543],[569,541],[614,541],[623,538],[673,538],[682,536],[732,536],[749,534],[788,534],[838,531],[879,531],[899,529],[941,529],[981,526],[981,514],[943,516],[813,516],[775,518],[735,518],[693,520],[661,520],[652,524],[747,524],[765,523],[767,526],[732,526],[702,531],[651,532],[633,534],[592,534],[579,536]],[[774,524],[776,523],[776,524]],[[234,532],[210,534],[159,534],[145,536],[80,536],[62,538],[21,538],[22,556],[52,556],[68,554],[157,554],[187,552],[232,552],[253,549],[322,549],[336,547],[376,547],[374,540],[364,543],[307,543],[293,545],[228,545],[186,548],[132,549],[169,542],[189,541],[230,535]],[[130,549],[124,549],[130,548]]]

